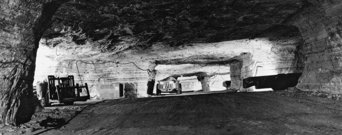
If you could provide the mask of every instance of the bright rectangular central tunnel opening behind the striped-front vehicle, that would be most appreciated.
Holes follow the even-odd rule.
[[[159,85],[163,85],[160,83],[167,83],[165,81],[169,81],[169,78],[177,80],[182,85],[184,93],[227,90],[223,82],[230,80],[227,65],[159,64],[155,69],[158,71],[155,92],[160,88]]]

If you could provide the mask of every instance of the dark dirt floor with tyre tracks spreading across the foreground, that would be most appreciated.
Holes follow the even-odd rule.
[[[341,95],[333,97],[338,96]],[[327,97],[329,95],[324,93],[269,91],[182,94],[106,100],[97,104],[99,101],[92,101],[76,106],[50,107],[53,111],[79,107],[76,117],[61,128],[41,127],[24,133],[14,128],[15,131],[3,134],[340,135],[341,100]],[[88,107],[81,111],[84,106]]]

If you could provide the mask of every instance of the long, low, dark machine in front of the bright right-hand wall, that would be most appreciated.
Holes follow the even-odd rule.
[[[243,83],[245,89],[255,86],[255,89],[284,90],[296,86],[301,75],[302,73],[282,73],[271,76],[248,77],[243,79]]]

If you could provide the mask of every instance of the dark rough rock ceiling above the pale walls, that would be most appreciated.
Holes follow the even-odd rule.
[[[288,26],[305,0],[72,0],[61,5],[43,38],[69,37],[103,52],[146,50],[260,36],[299,35]],[[282,31],[282,32],[277,32]],[[285,32],[284,32],[285,31]],[[300,35],[299,35],[300,36]],[[58,40],[48,40],[55,45]]]

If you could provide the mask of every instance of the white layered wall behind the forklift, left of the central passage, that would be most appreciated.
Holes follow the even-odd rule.
[[[54,75],[56,77],[66,77],[73,75],[75,77],[75,83],[81,84],[78,77],[76,61],[82,60],[85,62],[102,63],[106,61],[118,61],[117,59],[110,59],[106,57],[90,57],[87,56],[87,50],[83,53],[73,52],[71,49],[57,50],[57,56],[55,54],[56,48],[48,48],[46,45],[40,44],[37,64],[35,82],[43,81],[48,75]],[[63,56],[64,52],[64,56]],[[75,54],[78,53],[78,54]],[[74,57],[75,56],[75,57]],[[101,59],[101,60],[99,60]],[[148,69],[150,62],[142,62],[139,59],[121,60],[120,63],[134,62],[142,69]],[[133,64],[114,64],[106,63],[101,65],[92,65],[78,62],[78,69],[83,84],[88,83],[90,96],[96,98],[96,85],[97,84],[117,84],[123,83],[126,85],[126,89],[134,91],[139,96],[147,96],[147,71],[136,68]],[[85,94],[85,93],[83,93]]]

